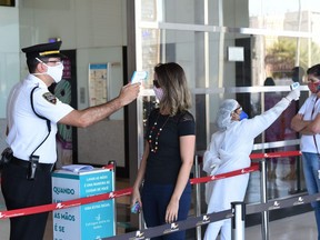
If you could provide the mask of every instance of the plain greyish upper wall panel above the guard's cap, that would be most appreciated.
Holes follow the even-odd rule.
[[[126,46],[126,0],[23,0],[21,46],[60,37],[62,49]]]

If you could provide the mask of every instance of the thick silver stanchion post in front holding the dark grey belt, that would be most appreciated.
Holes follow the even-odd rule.
[[[232,240],[244,240],[246,230],[246,204],[244,202],[231,202],[232,217]]]

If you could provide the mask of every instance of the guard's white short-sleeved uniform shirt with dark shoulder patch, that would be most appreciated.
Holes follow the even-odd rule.
[[[29,74],[19,82],[9,96],[7,142],[13,150],[16,158],[29,160],[30,154],[47,137],[47,121],[37,117],[31,108],[30,94],[37,86],[39,88],[33,91],[34,111],[51,121],[51,132],[33,154],[40,157],[39,162],[54,163],[57,160],[57,122],[70,113],[73,108],[57,99],[49,92],[44,82],[33,74]]]

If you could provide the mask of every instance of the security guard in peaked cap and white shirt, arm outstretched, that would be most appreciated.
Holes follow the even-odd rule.
[[[13,158],[2,170],[1,189],[8,210],[48,204],[51,170],[57,160],[57,123],[88,127],[139,94],[139,84],[123,86],[113,100],[76,110],[61,102],[48,87],[59,82],[63,71],[61,41],[23,48],[30,74],[16,84],[7,103],[7,142]],[[42,240],[48,212],[10,219],[10,240]]]

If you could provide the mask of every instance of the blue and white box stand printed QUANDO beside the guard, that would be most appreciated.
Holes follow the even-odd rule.
[[[114,172],[93,169],[52,173],[53,202],[114,191]],[[116,236],[114,199],[53,211],[53,240],[88,240]]]

